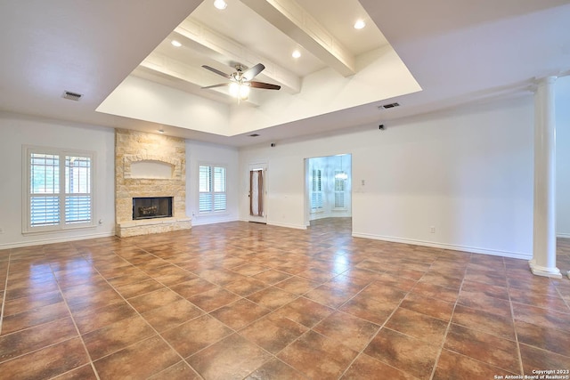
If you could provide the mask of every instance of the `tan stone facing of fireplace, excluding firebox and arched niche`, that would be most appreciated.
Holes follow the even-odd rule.
[[[173,167],[172,178],[131,178],[131,164],[158,161]],[[133,198],[173,197],[172,218],[133,220]],[[126,129],[115,130],[115,220],[118,237],[187,230],[186,143],[183,139]]]

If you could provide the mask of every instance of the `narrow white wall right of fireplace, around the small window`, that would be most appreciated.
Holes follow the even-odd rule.
[[[200,215],[198,206],[198,166],[200,164],[226,167],[227,210],[216,215]],[[222,145],[199,141],[186,141],[186,215],[192,218],[192,225],[238,220],[238,150]]]

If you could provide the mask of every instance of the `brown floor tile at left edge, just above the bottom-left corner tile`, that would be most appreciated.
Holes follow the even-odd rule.
[[[77,337],[77,330],[70,318],[57,319],[43,325],[0,336],[0,362],[11,360],[73,337]]]

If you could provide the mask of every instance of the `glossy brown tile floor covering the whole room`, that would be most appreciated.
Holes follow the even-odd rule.
[[[558,241],[570,269],[570,240]],[[2,379],[495,379],[570,369],[570,279],[247,222],[0,251]]]

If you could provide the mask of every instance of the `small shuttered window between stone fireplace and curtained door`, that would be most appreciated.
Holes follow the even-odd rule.
[[[199,166],[199,212],[225,211],[227,194],[224,166]]]

